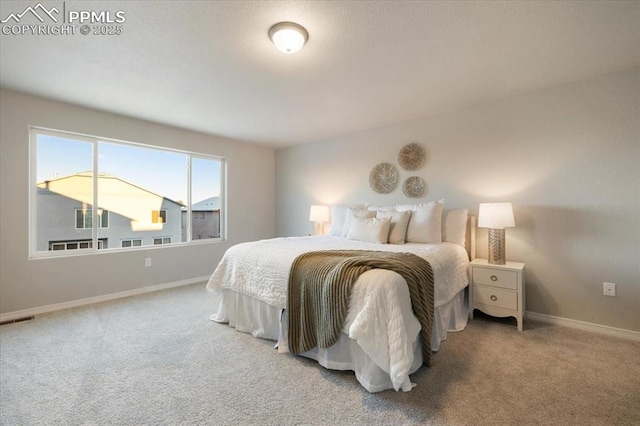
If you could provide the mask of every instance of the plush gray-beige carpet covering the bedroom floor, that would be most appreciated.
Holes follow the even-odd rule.
[[[484,317],[411,392],[208,319],[204,285],[0,327],[2,425],[638,425],[640,343]]]

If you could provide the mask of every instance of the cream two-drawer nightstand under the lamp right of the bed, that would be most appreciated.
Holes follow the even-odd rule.
[[[522,331],[525,307],[524,263],[493,265],[486,259],[471,262],[469,318],[479,309],[494,317],[514,317]]]

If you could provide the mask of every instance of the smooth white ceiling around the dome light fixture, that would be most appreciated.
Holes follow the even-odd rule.
[[[0,18],[36,4],[2,1]],[[640,64],[638,1],[44,5],[126,21],[120,35],[0,35],[2,87],[274,148]],[[271,44],[280,21],[308,30],[301,52]]]

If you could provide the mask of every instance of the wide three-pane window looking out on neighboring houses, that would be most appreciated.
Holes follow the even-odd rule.
[[[30,136],[32,257],[224,238],[223,158],[36,127]]]

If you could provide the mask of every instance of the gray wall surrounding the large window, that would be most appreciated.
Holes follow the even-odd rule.
[[[29,260],[30,125],[225,157],[227,241]],[[274,223],[270,148],[0,91],[0,313],[207,276],[231,245],[273,237]]]

